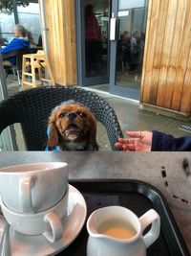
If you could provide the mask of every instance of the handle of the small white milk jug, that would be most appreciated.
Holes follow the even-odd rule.
[[[143,214],[140,218],[141,231],[149,225],[151,225],[151,229],[143,236],[144,243],[146,248],[148,248],[151,244],[153,244],[159,238],[159,230],[160,230],[160,217],[159,214],[151,209],[145,214]]]

